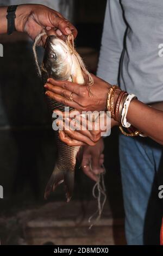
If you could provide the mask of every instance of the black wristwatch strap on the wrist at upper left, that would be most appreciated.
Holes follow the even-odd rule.
[[[10,5],[7,9],[7,19],[8,19],[8,35],[11,35],[15,29],[15,11],[18,5]]]

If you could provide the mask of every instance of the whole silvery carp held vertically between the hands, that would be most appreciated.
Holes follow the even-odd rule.
[[[67,42],[67,41],[66,41]],[[46,83],[48,77],[55,80],[68,80],[79,84],[84,83],[82,71],[89,76],[90,84],[93,84],[91,75],[86,70],[83,60],[80,58],[70,41],[66,43],[55,35],[47,37],[45,53],[42,63],[43,83]],[[54,109],[65,110],[65,106],[49,97],[47,97],[49,111],[53,113]],[[72,108],[70,108],[70,111]],[[58,131],[55,131],[58,133]],[[67,202],[70,201],[74,187],[74,171],[76,168],[77,154],[80,147],[70,147],[61,142],[57,136],[57,160],[53,173],[48,181],[45,190],[45,198],[54,191],[57,185],[65,182]]]

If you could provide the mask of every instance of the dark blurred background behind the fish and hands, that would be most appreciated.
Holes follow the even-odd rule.
[[[0,1],[0,5],[20,3],[42,3],[70,19],[78,29],[78,52],[87,68],[96,74],[105,0]],[[104,215],[101,222],[88,231],[87,219],[96,211],[97,202],[92,202],[94,182],[81,169],[76,172],[70,204],[65,203],[62,185],[47,201],[43,199],[55,164],[56,148],[43,84],[36,74],[33,42],[26,34],[15,32],[10,36],[0,35],[0,43],[4,48],[4,57],[0,58],[0,185],[4,188],[4,198],[0,199],[2,244],[124,244],[117,130],[112,130],[111,136],[105,138],[108,200]],[[41,62],[43,49],[38,48],[37,53]],[[79,221],[74,224],[74,219]],[[70,230],[66,231],[67,227]]]

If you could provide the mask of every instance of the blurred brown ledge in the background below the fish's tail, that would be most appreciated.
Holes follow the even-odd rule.
[[[124,245],[123,220],[112,217],[108,203],[101,220],[89,229],[88,220],[96,208],[96,201],[49,203],[30,212],[24,228],[25,240],[29,245]]]

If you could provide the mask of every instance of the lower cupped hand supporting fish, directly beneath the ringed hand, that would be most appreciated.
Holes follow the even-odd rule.
[[[61,112],[55,109],[54,113],[55,117],[59,117],[56,121],[59,126],[59,138],[69,146],[93,146],[105,132],[118,125],[117,121],[110,119],[105,112],[95,112],[91,115],[92,120],[89,120],[90,114],[84,117],[76,110]]]

